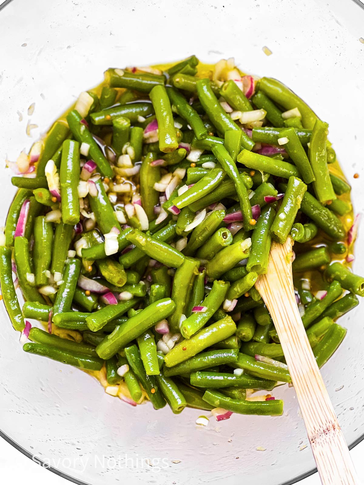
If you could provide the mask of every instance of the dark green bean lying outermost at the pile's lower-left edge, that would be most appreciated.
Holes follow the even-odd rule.
[[[48,357],[64,364],[73,365],[80,369],[88,369],[90,371],[99,371],[102,367],[103,361],[99,357],[85,356],[74,352],[66,352],[58,349],[52,345],[45,345],[41,343],[26,343],[23,346],[25,352],[36,354],[38,356]]]

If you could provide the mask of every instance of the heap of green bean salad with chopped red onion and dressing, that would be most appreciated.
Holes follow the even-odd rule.
[[[8,165],[18,192],[0,283],[23,350],[129,404],[282,414],[272,393],[291,377],[254,286],[272,240],[295,242],[319,367],[346,334],[336,319],[364,295],[328,124],[233,59],[110,68]]]

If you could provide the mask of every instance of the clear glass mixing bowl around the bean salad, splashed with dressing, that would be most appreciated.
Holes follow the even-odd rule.
[[[169,62],[192,53],[207,63],[234,56],[242,70],[286,83],[330,124],[361,212],[363,21],[363,10],[348,0],[13,0],[0,12],[0,158],[16,160],[109,66]],[[264,46],[273,52],[269,57]],[[38,126],[31,137],[28,123]],[[4,166],[1,225],[15,194]],[[361,274],[363,244],[361,231],[354,261]],[[242,477],[261,484],[269,476],[276,485],[314,471],[293,388],[275,390],[284,399],[279,418],[234,414],[197,427],[204,412],[186,409],[175,416],[149,404],[134,408],[105,394],[84,372],[24,353],[2,305],[0,313],[1,435],[73,482],[229,485]],[[349,445],[364,434],[363,313],[361,304],[341,318],[347,337],[322,369]]]

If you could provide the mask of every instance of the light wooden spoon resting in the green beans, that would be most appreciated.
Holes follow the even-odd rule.
[[[291,237],[284,244],[272,243],[267,273],[255,286],[276,327],[322,484],[359,484],[299,315],[292,278],[292,245]]]

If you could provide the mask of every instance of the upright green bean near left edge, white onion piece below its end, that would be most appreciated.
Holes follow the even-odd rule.
[[[46,222],[45,216],[38,216],[34,221],[34,273],[37,286],[47,285],[49,270],[52,259],[53,227]]]

